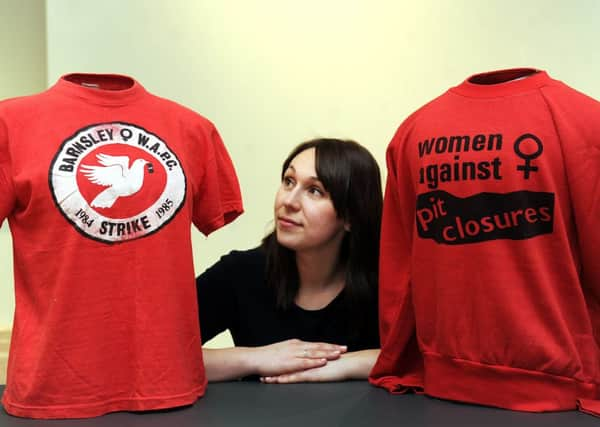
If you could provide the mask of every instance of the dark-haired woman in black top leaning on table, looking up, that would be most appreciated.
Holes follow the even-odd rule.
[[[235,347],[204,349],[209,381],[367,378],[379,353],[377,162],[361,145],[315,139],[283,163],[275,230],[196,280],[203,342],[229,329]]]

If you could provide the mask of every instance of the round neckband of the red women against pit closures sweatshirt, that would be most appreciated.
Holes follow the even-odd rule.
[[[535,68],[512,68],[474,74],[450,92],[469,98],[497,98],[537,90],[552,78]]]

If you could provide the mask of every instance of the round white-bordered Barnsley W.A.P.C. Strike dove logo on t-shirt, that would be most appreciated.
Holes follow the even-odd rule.
[[[179,159],[158,136],[129,123],[99,123],[67,138],[49,171],[62,214],[85,236],[107,243],[145,237],[183,206]]]

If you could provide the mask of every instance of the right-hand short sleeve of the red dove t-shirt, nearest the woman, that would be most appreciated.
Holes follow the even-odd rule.
[[[193,220],[205,235],[229,224],[243,211],[233,162],[217,129],[204,130],[204,173],[194,192]]]

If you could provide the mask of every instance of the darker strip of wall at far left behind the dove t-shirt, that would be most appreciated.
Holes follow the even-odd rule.
[[[46,87],[44,3],[0,0],[0,100]],[[0,228],[0,330],[12,326],[14,307],[12,242],[5,223]]]

